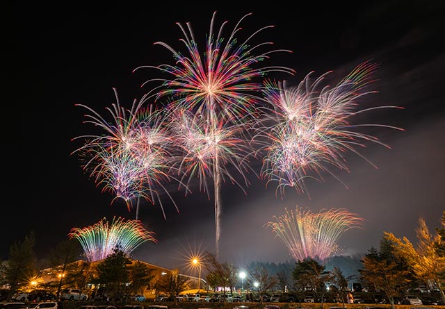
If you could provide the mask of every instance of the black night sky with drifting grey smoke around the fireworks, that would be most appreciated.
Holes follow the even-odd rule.
[[[72,138],[93,129],[83,124],[86,110],[75,104],[108,116],[105,107],[115,101],[115,87],[120,103],[129,107],[149,90],[140,85],[158,74],[133,69],[174,63],[167,49],[153,43],[163,41],[185,52],[175,23],[191,22],[202,47],[213,11],[217,27],[229,21],[226,35],[243,15],[253,13],[241,24],[240,40],[275,25],[255,42],[272,41],[277,49],[293,51],[273,55],[270,63],[296,69],[296,76],[286,76],[295,83],[311,71],[318,76],[330,70],[330,78],[338,82],[365,60],[378,63],[372,87],[379,93],[363,104],[404,109],[373,112],[359,120],[405,129],[369,131],[391,149],[378,144],[360,149],[378,169],[348,156],[350,173],[335,171],[348,189],[329,175],[323,175],[323,183],[308,184],[310,198],[293,190],[277,198],[273,185],[266,188],[254,176],[247,194],[223,185],[222,260],[241,267],[252,261],[290,260],[284,244],[264,225],[297,205],[313,212],[346,208],[363,217],[362,229],[347,231],[339,241],[350,254],[378,247],[383,231],[415,242],[419,217],[431,230],[439,226],[445,210],[444,2],[306,1],[291,7],[241,2],[6,5],[1,258],[31,230],[35,251],[43,258],[73,227],[104,217],[135,218],[135,210],[129,212],[122,201],[111,204],[113,196],[102,193],[71,155],[81,145]],[[197,190],[184,197],[176,187],[172,194],[179,213],[165,197],[166,219],[158,204],[141,206],[139,219],[156,233],[158,244],[145,242],[133,251],[134,258],[176,267],[187,251],[213,251],[213,199]]]

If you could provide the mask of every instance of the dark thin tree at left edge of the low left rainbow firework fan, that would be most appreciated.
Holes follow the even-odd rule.
[[[54,269],[54,275],[58,276],[57,299],[59,299],[64,280],[67,284],[71,285],[67,279],[70,274],[76,272],[76,269],[78,269],[78,265],[74,262],[79,260],[80,254],[81,248],[79,242],[74,242],[74,240],[63,240],[49,252],[49,266]],[[79,288],[82,289],[83,286]]]

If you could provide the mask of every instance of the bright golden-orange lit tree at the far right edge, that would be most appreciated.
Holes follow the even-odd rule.
[[[442,226],[443,224],[442,222]],[[407,260],[407,264],[414,275],[421,281],[434,282],[439,288],[442,300],[445,302],[445,294],[440,283],[440,277],[445,273],[445,256],[441,256],[437,250],[443,245],[439,231],[432,235],[426,226],[425,220],[419,218],[419,226],[416,228],[417,247],[414,247],[407,237],[400,239],[392,233],[384,233],[385,238],[393,243],[396,254]]]

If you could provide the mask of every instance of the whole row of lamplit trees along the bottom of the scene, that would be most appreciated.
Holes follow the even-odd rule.
[[[384,232],[380,247],[371,247],[362,256],[357,275],[345,275],[343,269],[335,265],[327,270],[326,263],[317,258],[286,265],[252,262],[245,267],[248,274],[245,290],[254,291],[259,301],[268,292],[275,291],[289,292],[301,302],[310,291],[323,303],[326,294],[330,293],[344,305],[350,292],[350,282],[355,280],[368,291],[384,294],[392,308],[396,298],[419,285],[437,289],[445,303],[442,288],[445,281],[445,211],[440,222],[441,226],[430,233],[426,222],[420,218],[416,245],[406,237],[398,238],[393,233]],[[29,287],[31,281],[48,276],[47,269],[51,269],[54,278],[40,287],[54,291],[57,296],[64,287],[83,290],[88,284],[94,284],[106,286],[111,299],[115,300],[122,299],[122,295],[144,294],[145,290],[176,297],[193,286],[190,278],[181,275],[179,269],[155,278],[153,269],[143,262],[131,260],[119,247],[104,260],[87,262],[79,260],[79,242],[65,240],[49,252],[49,257],[42,264],[35,256],[34,245],[35,235],[31,232],[22,242],[13,244],[8,259],[1,262],[0,284],[9,287],[8,299],[25,286]],[[224,294],[235,292],[234,287],[240,280],[238,267],[230,262],[221,262],[210,252],[204,255],[202,265],[207,288],[228,287]]]

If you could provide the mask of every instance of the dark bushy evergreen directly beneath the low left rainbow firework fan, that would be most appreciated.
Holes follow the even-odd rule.
[[[127,253],[117,247],[96,267],[98,281],[106,285],[113,302],[121,298],[125,283],[129,282],[129,264]]]

